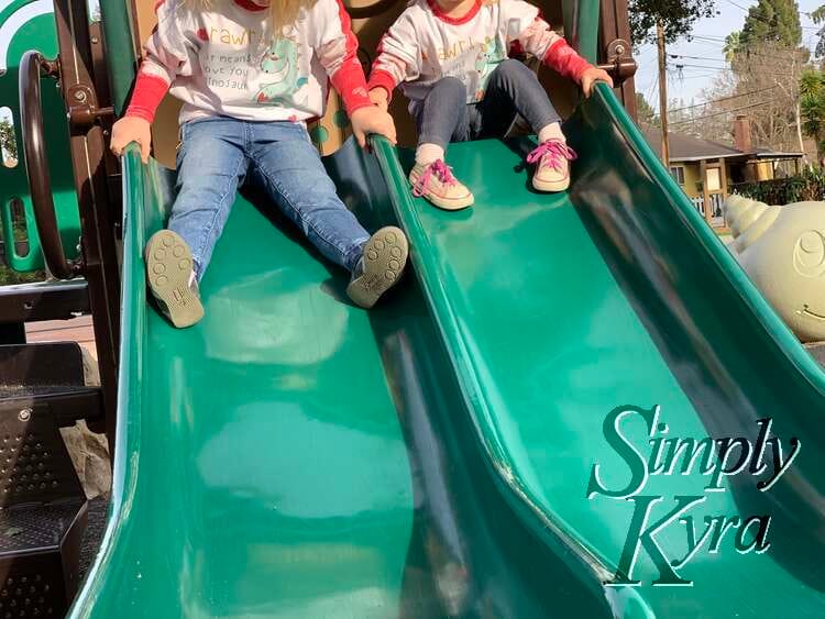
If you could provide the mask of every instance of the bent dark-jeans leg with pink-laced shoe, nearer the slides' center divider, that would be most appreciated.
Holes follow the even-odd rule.
[[[442,209],[469,207],[473,195],[444,165],[447,145],[470,139],[464,85],[454,77],[440,79],[420,103],[416,121],[418,148],[409,174],[414,192]]]

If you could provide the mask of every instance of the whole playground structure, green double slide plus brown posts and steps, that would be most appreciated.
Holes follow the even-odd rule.
[[[352,9],[367,55],[375,24],[402,9]],[[584,56],[631,75],[620,0],[542,9]],[[3,290],[0,301],[0,440],[31,441],[25,455],[12,445],[19,471],[3,480],[11,488],[53,457],[50,472],[62,472],[52,495],[26,477],[3,499],[0,516],[16,520],[0,528],[0,604],[6,590],[16,596],[9,608],[72,605],[72,617],[825,612],[825,376],[636,130],[620,103],[632,106],[631,80],[586,102],[554,97],[580,155],[569,194],[529,189],[529,137],[452,147],[476,197],[462,213],[411,198],[408,151],[374,140],[366,155],[334,137],[345,119],[332,106],[314,130],[334,150],[330,176],[369,226],[405,229],[410,274],[387,303],[354,308],[342,275],[244,194],[204,280],[207,316],[176,331],[146,303],[142,258],[168,212],[170,173],[106,148],[134,76],[141,10],[103,1],[101,27],[75,0],[57,0],[54,18],[44,0],[0,9],[0,27],[25,24],[7,53],[20,63],[7,59],[0,76],[3,96],[22,86],[10,107],[25,165],[2,170],[16,185],[0,176],[0,206],[9,239],[22,202],[30,252],[10,263],[25,270],[42,257],[67,281]],[[20,11],[29,21],[11,19]],[[33,35],[52,24],[56,45]],[[155,128],[160,161],[170,108]],[[234,258],[249,246],[262,251]],[[75,346],[22,336],[25,321],[84,311],[100,388],[82,384]],[[697,523],[770,513],[770,552],[738,553],[730,535],[680,567],[690,588],[652,587],[662,566],[647,556],[632,574],[640,586],[605,586],[634,507],[588,498],[591,467],[626,482],[605,418],[657,406],[674,436],[756,440],[757,420],[770,417],[804,449],[770,493],[732,477],[692,511]],[[85,507],[57,428],[78,418],[106,430],[114,472],[106,534],[75,597]],[[672,502],[706,484],[693,471],[651,477],[646,493]],[[33,535],[13,533],[32,522],[51,533],[38,553],[23,548]],[[672,559],[685,554],[683,529],[659,542]]]

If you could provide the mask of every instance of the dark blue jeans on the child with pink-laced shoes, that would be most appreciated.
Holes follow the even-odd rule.
[[[504,137],[518,114],[536,133],[561,120],[536,74],[514,59],[498,64],[477,103],[466,104],[464,85],[444,77],[411,111],[418,123],[418,143],[442,148],[450,142]]]

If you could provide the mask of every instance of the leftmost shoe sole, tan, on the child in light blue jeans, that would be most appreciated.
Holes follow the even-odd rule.
[[[204,306],[189,288],[193,259],[186,241],[170,230],[156,232],[146,244],[145,261],[148,288],[172,324],[184,329],[204,318]]]

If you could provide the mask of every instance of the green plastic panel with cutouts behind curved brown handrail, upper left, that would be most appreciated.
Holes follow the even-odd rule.
[[[0,108],[11,110],[19,157],[18,165],[12,168],[3,166],[0,162],[0,221],[3,226],[3,239],[7,240],[6,259],[9,266],[14,270],[28,272],[43,268],[43,254],[23,163],[18,65],[22,55],[30,49],[38,51],[47,58],[57,55],[54,5],[51,0],[13,0],[8,3],[0,2]],[[80,241],[80,217],[74,189],[66,113],[56,84],[53,79],[43,80],[43,131],[46,136],[57,225],[66,255],[74,258],[78,254]],[[14,244],[9,242],[14,237],[12,203],[18,200],[22,200],[23,203],[25,235],[29,241],[29,252],[25,255],[19,255]]]

